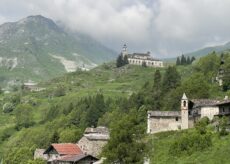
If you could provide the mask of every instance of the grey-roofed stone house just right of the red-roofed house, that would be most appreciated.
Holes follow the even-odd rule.
[[[106,127],[86,128],[78,145],[84,153],[97,157],[109,140],[109,131]]]

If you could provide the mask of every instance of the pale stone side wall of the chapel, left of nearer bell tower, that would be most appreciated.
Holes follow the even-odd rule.
[[[148,133],[178,130],[181,126],[180,117],[150,117],[148,118]]]

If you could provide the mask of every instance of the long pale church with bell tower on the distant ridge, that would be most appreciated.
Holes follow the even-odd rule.
[[[129,64],[132,65],[145,64],[147,67],[163,67],[163,62],[161,60],[151,57],[150,52],[129,54],[126,44],[123,46],[121,54],[123,58],[127,56]]]

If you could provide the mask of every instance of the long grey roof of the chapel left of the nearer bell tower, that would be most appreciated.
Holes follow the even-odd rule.
[[[150,117],[181,117],[180,111],[148,111]]]

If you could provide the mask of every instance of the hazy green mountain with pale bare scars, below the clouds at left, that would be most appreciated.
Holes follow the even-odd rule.
[[[0,83],[50,79],[77,68],[91,69],[116,55],[41,15],[0,26]]]

